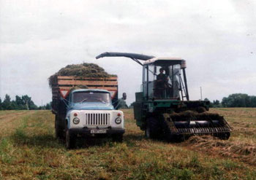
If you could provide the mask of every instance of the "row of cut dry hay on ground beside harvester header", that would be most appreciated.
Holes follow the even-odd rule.
[[[212,136],[192,136],[189,138],[188,144],[200,149],[200,151],[238,158],[244,163],[256,165],[256,145],[253,143],[222,141]]]

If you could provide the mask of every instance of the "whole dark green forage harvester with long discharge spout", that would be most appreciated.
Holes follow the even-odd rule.
[[[209,101],[189,101],[185,60],[124,52],[104,52],[96,58],[103,57],[127,57],[143,66],[141,92],[135,93],[133,105],[136,124],[148,138],[230,137],[232,128],[224,117],[207,112]]]

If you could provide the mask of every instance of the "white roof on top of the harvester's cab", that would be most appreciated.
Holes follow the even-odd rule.
[[[167,66],[171,66],[171,65],[176,65],[176,64],[180,64],[181,68],[186,68],[186,60],[181,59],[181,58],[151,58],[149,60],[146,60],[144,65],[150,65],[150,64],[154,64],[154,65],[167,65]]]

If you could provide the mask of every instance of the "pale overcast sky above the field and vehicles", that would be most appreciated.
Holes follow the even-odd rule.
[[[187,60],[189,97],[256,95],[256,1],[0,0],[0,97],[51,101],[48,77],[68,64],[97,63],[118,75],[127,103],[142,68],[102,52]]]

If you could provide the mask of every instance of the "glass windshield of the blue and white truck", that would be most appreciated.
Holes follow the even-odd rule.
[[[110,93],[103,92],[77,92],[73,93],[73,103],[102,102],[110,103]]]

